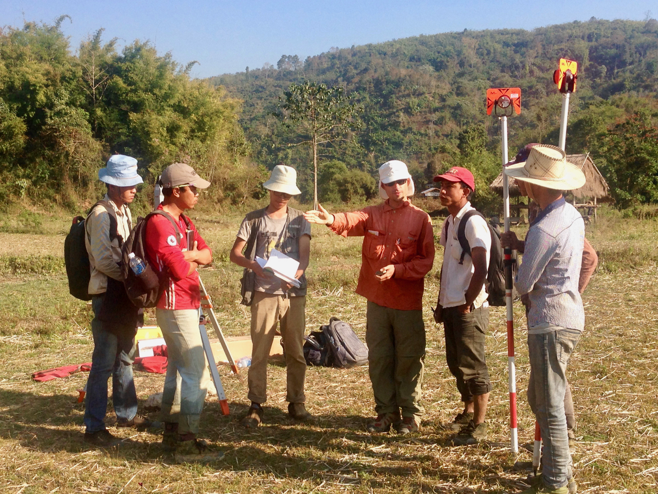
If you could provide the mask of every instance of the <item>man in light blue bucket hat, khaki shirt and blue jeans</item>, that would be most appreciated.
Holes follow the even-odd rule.
[[[112,401],[118,427],[147,427],[151,423],[137,414],[137,395],[132,375],[135,356],[134,328],[124,331],[122,325],[101,320],[108,283],[123,283],[121,246],[132,229],[132,216],[128,205],[137,194],[136,186],[143,180],[137,173],[137,160],[121,154],[107,161],[98,172],[105,182],[107,194],[97,202],[85,221],[85,244],[89,254],[91,278],[88,292],[94,317],[91,321],[93,354],[87,381],[84,440],[87,443],[112,447],[120,439],[105,428],[107,410],[107,379],[112,375]],[[132,333],[131,333],[132,331]]]

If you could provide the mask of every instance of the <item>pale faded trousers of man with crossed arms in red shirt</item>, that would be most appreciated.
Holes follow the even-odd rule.
[[[168,354],[161,408],[163,420],[177,422],[181,434],[198,433],[210,379],[199,331],[199,311],[156,309],[155,317]]]

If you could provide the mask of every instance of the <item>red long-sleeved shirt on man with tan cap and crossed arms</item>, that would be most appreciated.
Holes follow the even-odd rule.
[[[158,209],[163,209],[162,205]],[[156,215],[146,224],[146,257],[153,269],[162,273],[168,268],[166,278],[161,277],[161,283],[166,283],[157,308],[181,310],[198,309],[201,302],[199,290],[199,273],[193,271],[188,276],[190,264],[183,256],[183,250],[188,248],[185,221],[182,217],[174,218],[178,229],[168,219]],[[210,250],[205,240],[201,238],[194,223],[190,220],[190,229],[194,232],[197,249]]]

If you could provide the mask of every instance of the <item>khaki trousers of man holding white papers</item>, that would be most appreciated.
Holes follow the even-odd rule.
[[[281,337],[286,348],[286,373],[288,394],[286,401],[303,403],[304,377],[304,332],[306,329],[306,297],[272,295],[255,292],[251,304],[251,367],[249,367],[249,394],[247,398],[256,403],[267,400],[267,360],[274,341],[276,325],[279,323]]]

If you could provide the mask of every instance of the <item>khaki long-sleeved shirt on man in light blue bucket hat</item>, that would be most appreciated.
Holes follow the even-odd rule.
[[[110,218],[116,217],[116,234],[126,240],[132,230],[132,216],[130,209],[125,204],[116,207],[116,204],[105,194],[103,200],[109,202],[111,212],[99,204],[89,213],[85,222],[85,246],[89,254],[89,267],[91,268],[91,279],[89,279],[89,294],[96,295],[105,293],[107,290],[107,277],[113,277],[122,281],[121,268],[121,244],[118,238],[110,242]]]

